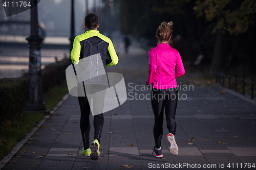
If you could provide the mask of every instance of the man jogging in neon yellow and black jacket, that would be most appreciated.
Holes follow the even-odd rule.
[[[85,18],[84,28],[87,31],[78,35],[74,39],[73,49],[71,52],[72,63],[77,64],[80,59],[100,54],[104,66],[116,65],[118,57],[116,55],[114,46],[110,38],[102,35],[97,31],[99,28],[98,16],[95,14],[88,14]],[[104,124],[103,113],[94,116],[94,140],[90,146],[90,105],[87,96],[78,97],[80,105],[80,129],[83,140],[83,148],[81,154],[90,156],[92,160],[98,160],[100,136]],[[97,102],[97,101],[96,101]],[[91,147],[91,148],[90,148]]]

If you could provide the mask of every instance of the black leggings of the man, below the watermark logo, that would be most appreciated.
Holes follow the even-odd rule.
[[[80,118],[80,129],[82,134],[82,141],[83,141],[83,147],[84,150],[90,148],[90,105],[87,99],[87,96],[85,97],[78,97],[78,102],[80,105],[81,110],[81,118]],[[94,125],[94,139],[97,139],[100,142],[100,136],[102,132],[102,127],[104,124],[104,117],[103,113],[95,115],[93,120]]]

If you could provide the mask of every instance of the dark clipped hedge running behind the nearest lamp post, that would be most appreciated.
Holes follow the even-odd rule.
[[[42,69],[43,93],[66,80],[66,68],[70,64],[70,59],[64,59]],[[0,79],[0,125],[8,119],[12,120],[19,116],[24,111],[28,98],[28,73],[22,78]]]

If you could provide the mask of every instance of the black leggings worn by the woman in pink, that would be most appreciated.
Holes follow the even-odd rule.
[[[178,102],[178,90],[176,88],[156,89],[152,88],[151,104],[155,116],[154,138],[156,147],[161,147],[161,139],[163,136],[163,108],[165,109],[165,117],[169,133],[175,135],[176,122],[175,114]]]

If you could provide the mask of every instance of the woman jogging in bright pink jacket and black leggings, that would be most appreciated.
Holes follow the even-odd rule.
[[[164,109],[169,130],[169,134],[167,134],[167,140],[170,143],[169,151],[173,156],[178,154],[178,146],[175,139],[178,89],[176,88],[175,78],[183,76],[185,70],[179,52],[168,44],[172,37],[172,26],[172,21],[161,23],[156,34],[158,45],[148,52],[149,68],[146,83],[152,86],[151,104],[155,116],[153,133],[156,143],[153,153],[155,153],[156,157],[163,156],[161,139],[163,136]]]

